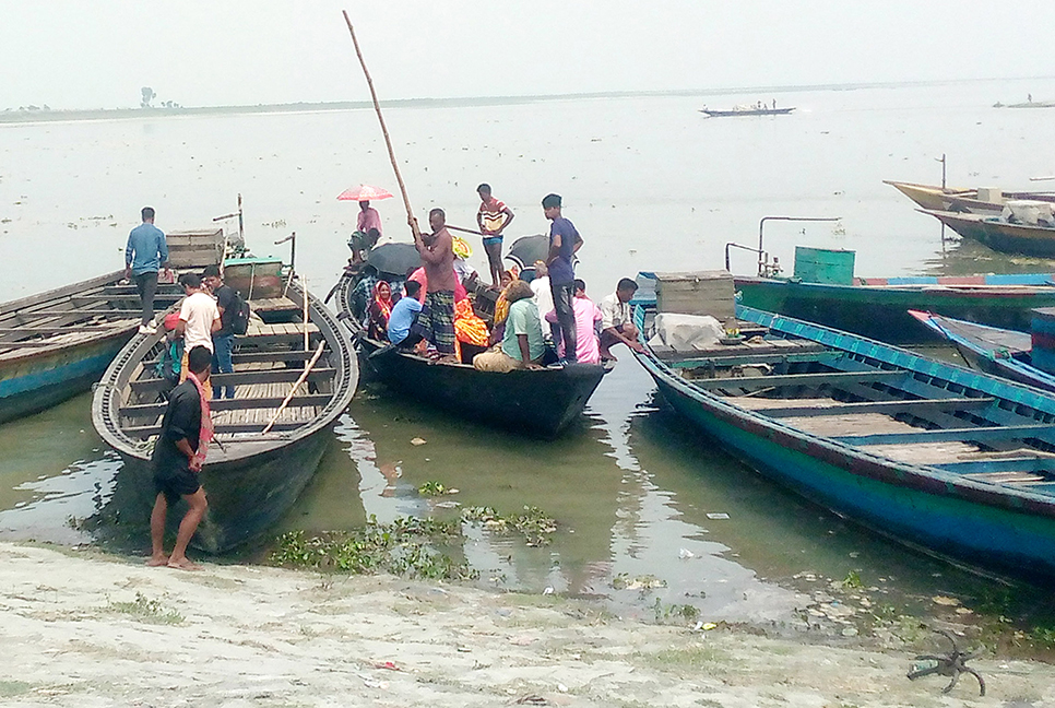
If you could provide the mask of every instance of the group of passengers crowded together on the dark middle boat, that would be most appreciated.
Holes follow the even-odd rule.
[[[429,212],[430,233],[422,235],[411,220],[420,267],[412,267],[405,279],[360,280],[360,292],[369,288],[365,308],[367,337],[393,346],[416,351],[443,362],[472,363],[483,371],[510,371],[550,364],[577,362],[598,364],[614,359],[611,347],[626,344],[640,349],[628,303],[637,291],[630,279],[619,281],[616,292],[600,307],[586,295],[586,285],[576,279],[574,253],[582,237],[562,216],[561,198],[547,194],[543,212],[552,222],[549,251],[524,272],[501,270],[501,232],[512,211],[491,194],[488,185],[477,189],[484,248],[490,261],[494,298],[489,321],[473,307],[490,302],[478,287],[475,271],[460,256],[457,239],[446,224],[441,209]],[[497,287],[496,287],[497,286]],[[482,310],[486,308],[481,308]]]

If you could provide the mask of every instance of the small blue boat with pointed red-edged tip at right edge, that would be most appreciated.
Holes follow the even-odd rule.
[[[911,310],[909,314],[955,345],[972,368],[1055,391],[1055,376],[1033,366],[1033,338],[1028,332],[986,327],[932,312]]]

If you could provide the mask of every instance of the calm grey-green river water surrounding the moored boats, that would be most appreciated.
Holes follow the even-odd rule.
[[[475,186],[488,181],[517,212],[511,236],[543,233],[541,198],[564,194],[585,240],[580,275],[600,298],[638,270],[721,268],[725,244],[757,243],[766,215],[841,217],[768,225],[766,248],[787,264],[801,244],[854,249],[858,275],[1046,270],[943,243],[936,222],[880,181],[937,182],[943,153],[950,185],[1024,189],[1030,177],[1053,174],[1055,111],[992,107],[1027,93],[1055,95],[1055,80],[706,99],[798,107],[773,118],[706,119],[702,98],[671,95],[400,107],[387,120],[423,222],[439,205],[450,223],[473,226]],[[367,110],[0,125],[0,299],[116,270],[144,204],[165,231],[202,228],[234,211],[239,192],[250,247],[286,256],[273,244],[296,232],[297,268],[324,292],[355,223],[355,204],[335,196],[359,182],[395,191]],[[386,232],[406,238],[401,204],[376,205]],[[752,263],[740,253],[733,269]],[[85,394],[0,426],[0,538],[93,542],[78,521],[109,498],[120,461],[88,409]],[[557,519],[545,547],[472,532],[465,554],[482,582],[600,595],[629,613],[648,613],[659,599],[715,620],[786,620],[796,593],[809,590],[803,578],[854,574],[905,606],[933,595],[970,603],[999,587],[760,479],[666,410],[629,355],[581,423],[553,442],[364,387],[275,532],[450,514],[418,494],[430,481],[459,489],[443,502],[503,512],[534,505]],[[642,582],[657,585],[651,578],[663,586],[642,591]]]

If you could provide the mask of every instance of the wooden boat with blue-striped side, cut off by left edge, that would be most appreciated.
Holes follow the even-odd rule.
[[[125,271],[0,305],[0,423],[88,390],[140,323]],[[175,302],[165,286],[157,300]]]

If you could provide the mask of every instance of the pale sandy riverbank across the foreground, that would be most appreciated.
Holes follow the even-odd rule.
[[[619,620],[553,597],[268,567],[146,568],[0,544],[5,706],[1027,706],[1055,666],[983,657],[910,683],[911,652]]]

